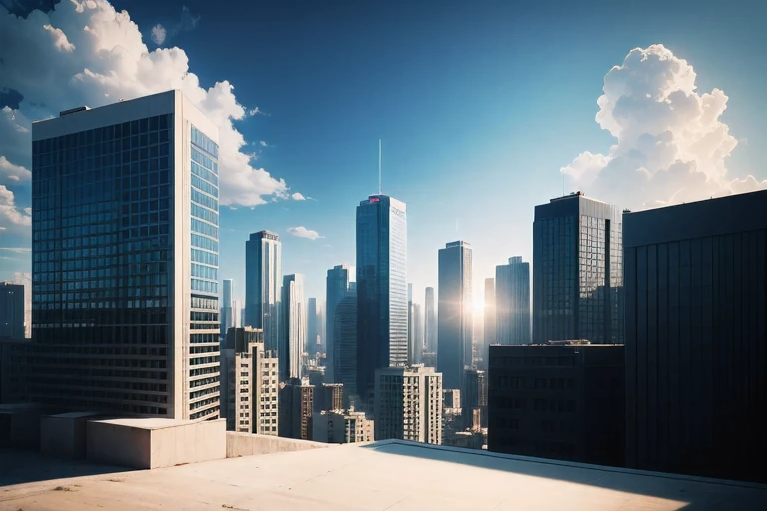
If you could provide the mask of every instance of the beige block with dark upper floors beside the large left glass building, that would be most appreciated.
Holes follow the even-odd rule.
[[[264,332],[232,327],[221,349],[222,417],[226,429],[277,436],[278,359],[265,351]]]

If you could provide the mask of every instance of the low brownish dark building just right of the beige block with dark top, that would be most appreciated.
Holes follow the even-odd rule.
[[[280,383],[279,428],[281,437],[311,440],[314,385],[309,378],[289,378]]]

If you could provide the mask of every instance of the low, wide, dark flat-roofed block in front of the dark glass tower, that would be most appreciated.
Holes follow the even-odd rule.
[[[624,346],[490,346],[488,449],[621,467]]]

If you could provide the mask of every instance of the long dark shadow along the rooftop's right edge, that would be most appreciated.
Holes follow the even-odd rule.
[[[487,450],[420,444],[412,441],[379,441],[373,444],[360,445],[360,447],[374,449],[386,454],[420,457],[427,460],[596,486],[634,495],[653,496],[685,503],[678,508],[683,511],[718,511],[719,509],[764,511],[767,509],[767,485],[765,484],[575,464],[567,461],[512,456],[492,453]],[[465,483],[469,483],[469,481]]]

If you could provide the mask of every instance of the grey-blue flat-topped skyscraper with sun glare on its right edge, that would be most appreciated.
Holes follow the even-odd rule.
[[[436,368],[444,388],[463,388],[472,364],[472,249],[453,241],[439,249]]]

